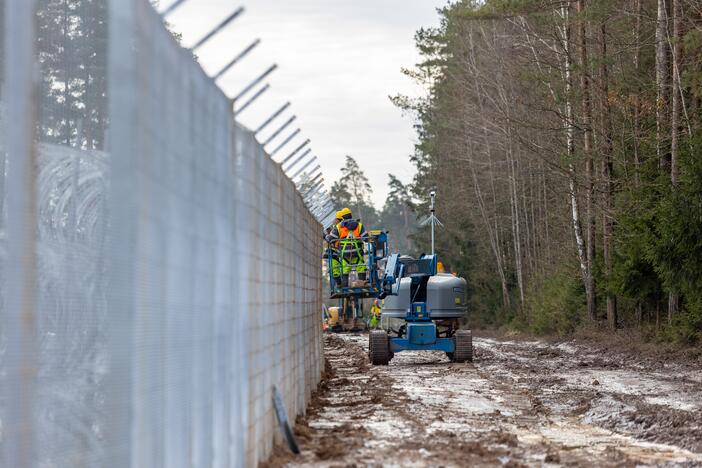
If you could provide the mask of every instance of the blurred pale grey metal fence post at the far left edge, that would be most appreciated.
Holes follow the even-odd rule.
[[[7,0],[5,72],[8,119],[6,377],[2,385],[4,466],[33,466],[36,381],[35,1]],[[10,66],[11,65],[11,66]]]

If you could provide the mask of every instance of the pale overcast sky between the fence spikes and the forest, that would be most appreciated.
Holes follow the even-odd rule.
[[[272,63],[269,90],[240,116],[257,127],[286,101],[302,128],[301,136],[280,160],[305,139],[312,140],[327,188],[339,177],[344,155],[354,156],[373,186],[373,201],[382,207],[387,174],[408,182],[416,141],[410,117],[390,102],[397,93],[421,93],[401,74],[418,62],[414,33],[438,23],[436,9],[446,0],[239,0],[246,13],[198,51],[200,63],[214,74],[256,38],[262,44],[219,84],[233,96]],[[232,0],[190,0],[169,20],[195,43],[239,5]],[[162,0],[162,5],[171,3]],[[280,118],[276,124],[285,122]],[[271,125],[274,130],[276,125]],[[267,135],[263,135],[267,136]],[[282,140],[282,139],[281,139]],[[281,141],[278,140],[278,141]],[[294,143],[297,143],[294,144]],[[272,150],[274,144],[268,147]]]

